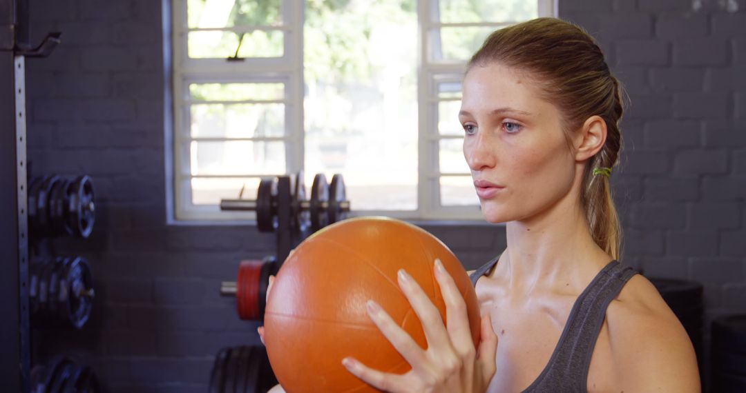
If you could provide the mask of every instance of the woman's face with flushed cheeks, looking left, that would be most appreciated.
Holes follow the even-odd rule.
[[[499,63],[474,65],[463,82],[463,151],[489,223],[529,220],[572,189],[576,163],[560,111],[533,77]]]

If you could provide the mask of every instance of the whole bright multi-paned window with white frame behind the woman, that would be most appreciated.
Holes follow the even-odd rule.
[[[457,120],[466,60],[552,0],[174,0],[177,220],[251,220],[260,178],[342,173],[354,211],[480,218]]]

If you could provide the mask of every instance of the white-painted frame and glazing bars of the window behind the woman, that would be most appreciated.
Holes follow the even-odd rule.
[[[241,62],[227,62],[223,59],[189,59],[187,57],[186,35],[190,31],[186,16],[187,0],[172,0],[172,43],[173,43],[173,130],[167,135],[172,141],[172,165],[167,164],[170,179],[166,192],[169,221],[206,223],[210,221],[251,223],[255,215],[251,212],[219,211],[216,205],[193,205],[192,177],[240,177],[252,176],[192,176],[189,173],[189,143],[192,141],[189,130],[189,83],[252,83],[281,82],[285,85],[285,127],[286,136],[270,138],[285,142],[286,169],[297,173],[304,166],[304,81],[303,81],[303,14],[305,0],[281,0],[280,14],[282,25],[225,28],[239,32],[283,31],[284,50],[282,57],[247,58]],[[557,0],[538,1],[539,16],[556,16]],[[440,204],[439,178],[441,176],[461,176],[469,173],[441,173],[439,171],[439,141],[446,138],[463,138],[439,135],[438,103],[436,84],[442,81],[460,82],[466,62],[433,62],[430,60],[430,31],[449,27],[490,27],[501,28],[511,23],[442,23],[433,22],[437,16],[438,0],[418,0],[419,18],[419,176],[417,194],[418,209],[415,211],[354,211],[352,215],[383,214],[410,220],[483,220],[478,206],[442,206]],[[194,31],[192,29],[191,31]],[[203,29],[197,29],[203,30]],[[208,29],[209,30],[209,29]],[[168,138],[170,136],[171,138]],[[254,138],[253,140],[267,138]],[[210,140],[223,140],[210,138]],[[166,147],[167,149],[169,147]],[[331,173],[327,173],[330,176]],[[271,175],[267,175],[271,176]],[[248,196],[253,199],[254,196]],[[354,209],[354,201],[351,201]],[[173,215],[171,215],[173,214]]]

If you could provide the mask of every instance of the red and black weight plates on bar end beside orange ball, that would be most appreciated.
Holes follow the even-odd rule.
[[[262,261],[241,261],[236,281],[223,281],[220,295],[236,297],[236,311],[240,319],[257,321],[264,318],[269,276],[278,272],[275,257]]]

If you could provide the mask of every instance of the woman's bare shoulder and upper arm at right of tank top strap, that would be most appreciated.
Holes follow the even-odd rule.
[[[606,310],[615,368],[627,392],[699,392],[694,347],[650,281],[634,275]]]

